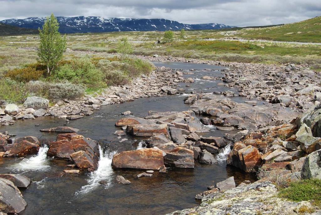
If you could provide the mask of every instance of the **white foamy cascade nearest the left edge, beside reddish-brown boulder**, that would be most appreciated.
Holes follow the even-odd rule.
[[[47,145],[40,147],[37,155],[32,156],[30,158],[24,158],[22,161],[20,161],[20,163],[15,164],[11,168],[19,172],[47,170],[48,168],[50,168],[50,166],[47,165],[47,151]]]

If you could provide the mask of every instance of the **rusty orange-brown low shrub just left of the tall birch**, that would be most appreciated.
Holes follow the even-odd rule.
[[[9,70],[5,77],[18,82],[29,82],[39,80],[46,73],[46,67],[39,63],[26,64],[22,68]]]

